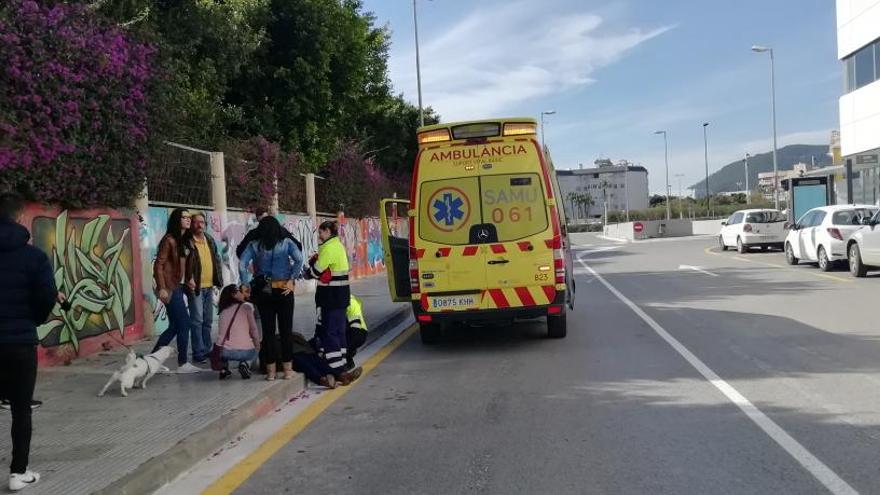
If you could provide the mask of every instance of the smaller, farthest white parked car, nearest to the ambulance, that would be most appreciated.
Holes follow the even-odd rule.
[[[735,247],[745,253],[753,247],[782,249],[785,217],[778,210],[740,210],[721,223],[721,250]]]

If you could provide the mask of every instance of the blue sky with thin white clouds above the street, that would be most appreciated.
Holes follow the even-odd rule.
[[[545,117],[557,168],[627,159],[673,194],[771,149],[774,48],[779,146],[828,144],[843,70],[831,0],[417,0],[422,95],[443,122]],[[391,31],[395,91],[417,103],[412,0],[364,0]],[[683,178],[675,177],[684,174]]]

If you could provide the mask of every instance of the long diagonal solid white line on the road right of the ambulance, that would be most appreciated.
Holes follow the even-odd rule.
[[[678,352],[681,357],[685,359],[691,366],[694,367],[703,378],[705,378],[709,383],[711,383],[715,388],[717,388],[728,400],[736,404],[737,407],[748,416],[759,428],[761,428],[764,433],[767,434],[770,438],[772,438],[780,447],[783,448],[790,456],[792,456],[801,466],[804,467],[807,471],[810,472],[820,483],[825,485],[826,488],[831,493],[835,495],[843,495],[843,494],[857,494],[858,492],[851,487],[846,481],[844,481],[840,476],[837,475],[831,468],[825,465],[822,461],[820,461],[816,456],[810,453],[803,445],[801,445],[797,440],[794,439],[791,435],[788,434],[785,430],[782,429],[781,426],[776,424],[772,419],[770,419],[766,414],[764,414],[760,409],[755,407],[754,404],[751,403],[744,395],[739,393],[732,385],[722,380],[721,377],[718,376],[717,373],[712,371],[711,368],[706,366],[703,361],[700,360],[694,353],[688,350],[681,342],[679,342],[675,337],[670,335],[662,326],[660,326],[657,321],[651,318],[647,313],[645,313],[638,305],[632,302],[629,298],[624,296],[619,290],[617,290],[613,285],[608,283],[604,277],[599,275],[596,270],[587,265],[583,259],[578,257],[578,261],[586,268],[602,285],[605,286],[615,297],[620,299],[624,304],[626,304],[629,309],[631,309],[636,315],[639,316],[645,323],[650,326],[657,335],[660,336],[667,344],[669,344],[676,352]]]

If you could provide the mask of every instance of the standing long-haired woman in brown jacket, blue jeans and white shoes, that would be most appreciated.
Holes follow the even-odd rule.
[[[177,372],[194,373],[200,371],[186,360],[189,341],[189,312],[183,274],[189,247],[185,235],[189,230],[191,215],[185,208],[177,208],[168,216],[165,235],[159,241],[156,261],[153,262],[153,279],[156,282],[156,295],[165,305],[168,314],[168,329],[162,332],[153,352],[166,346],[177,337]]]

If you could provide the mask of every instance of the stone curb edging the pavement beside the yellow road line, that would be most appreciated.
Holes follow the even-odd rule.
[[[404,306],[386,315],[375,328],[370,329],[364,345],[370,345],[381,338],[403,322],[409,314],[410,308]],[[299,373],[295,380],[278,380],[251,400],[230,410],[201,430],[180,440],[162,454],[140,464],[132,472],[93,493],[95,495],[153,493],[222,448],[245,428],[269,415],[305,388],[305,376]]]

